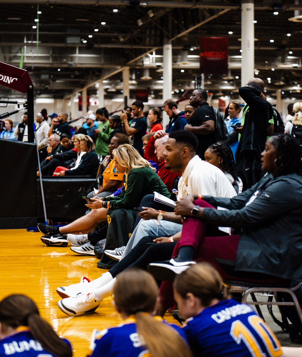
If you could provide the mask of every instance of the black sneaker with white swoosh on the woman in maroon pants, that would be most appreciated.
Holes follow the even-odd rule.
[[[170,259],[163,262],[150,263],[147,269],[155,279],[169,281],[174,280],[176,274],[187,270],[192,264],[196,264],[196,262],[176,262],[174,259]]]

